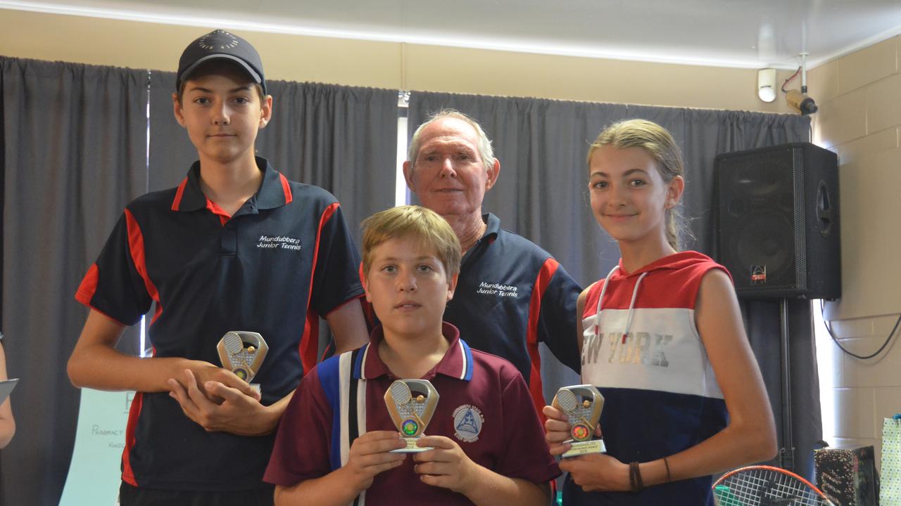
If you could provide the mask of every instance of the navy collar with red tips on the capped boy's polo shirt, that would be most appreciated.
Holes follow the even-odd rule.
[[[263,182],[259,185],[257,193],[250,197],[250,203],[257,209],[274,209],[281,207],[293,200],[291,187],[287,178],[269,164],[266,158],[256,157],[257,167],[263,172]],[[175,200],[172,203],[173,211],[197,211],[204,209],[207,199],[200,187],[200,161],[187,171],[187,177],[182,180],[176,190]]]

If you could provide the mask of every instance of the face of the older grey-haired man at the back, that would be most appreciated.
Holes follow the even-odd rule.
[[[420,132],[415,163],[404,163],[406,185],[423,206],[441,214],[481,214],[485,192],[497,180],[500,164],[486,169],[478,135],[467,122],[445,118]]]

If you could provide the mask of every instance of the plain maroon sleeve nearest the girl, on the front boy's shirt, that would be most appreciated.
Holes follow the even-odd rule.
[[[560,467],[544,438],[542,422],[532,404],[523,376],[510,367],[509,381],[501,402],[504,404],[504,452],[495,472],[532,483],[547,483],[560,476]]]

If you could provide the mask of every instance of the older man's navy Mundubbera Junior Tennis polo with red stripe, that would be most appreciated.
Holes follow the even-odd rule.
[[[578,373],[576,300],[582,289],[550,253],[501,229],[494,214],[482,219],[487,229],[463,257],[444,321],[459,328],[472,348],[513,362],[541,412],[547,402],[538,343]]]

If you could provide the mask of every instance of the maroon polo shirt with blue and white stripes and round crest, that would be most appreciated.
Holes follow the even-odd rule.
[[[442,331],[450,348],[423,376],[440,395],[425,434],[451,438],[497,474],[532,483],[560,475],[522,375],[505,359],[469,348],[453,325],[445,323]],[[397,377],[378,357],[382,339],[379,326],[369,344],[325,360],[305,377],[279,425],[267,482],[293,486],[322,477],[347,463],[357,435],[397,430],[385,406]],[[460,493],[423,483],[413,466],[408,456],[377,474],[361,500],[367,506],[471,504]]]

